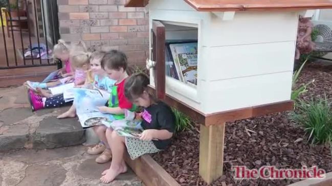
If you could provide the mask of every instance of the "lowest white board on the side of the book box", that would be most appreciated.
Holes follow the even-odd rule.
[[[292,72],[209,82],[205,113],[252,107],[291,99]]]

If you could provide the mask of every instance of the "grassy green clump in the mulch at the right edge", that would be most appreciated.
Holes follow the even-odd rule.
[[[317,100],[299,100],[297,112],[293,112],[291,119],[304,127],[307,142],[312,144],[331,143],[332,112],[331,103],[325,98]]]

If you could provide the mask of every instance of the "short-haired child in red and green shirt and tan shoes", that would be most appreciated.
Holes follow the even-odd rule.
[[[124,82],[128,77],[127,69],[127,57],[118,50],[111,50],[105,54],[101,61],[101,67],[108,74],[108,77],[116,81],[115,86],[112,88],[110,98],[108,101],[108,107],[99,107],[99,111],[102,113],[112,114],[115,120],[124,119],[124,111],[135,109],[134,105],[127,100],[124,96]],[[88,149],[88,154],[100,154],[96,158],[97,163],[106,163],[112,157],[109,146],[106,142],[105,125],[98,125],[93,127],[95,133],[99,137],[101,143],[95,147]]]

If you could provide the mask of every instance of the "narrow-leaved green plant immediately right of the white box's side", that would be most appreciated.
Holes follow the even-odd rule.
[[[306,60],[306,61],[307,61],[307,60]],[[298,83],[297,83],[297,82],[298,82],[299,74],[300,74],[300,72],[301,72],[303,66],[305,65],[306,61],[304,61],[304,62],[302,63],[302,65],[301,65],[301,67],[300,67],[298,70],[296,70],[296,71],[294,72],[294,74],[293,74],[292,94],[291,94],[291,99],[292,99],[293,101],[296,101],[296,100],[299,98],[299,96],[300,96],[301,94],[303,94],[304,92],[307,92],[306,87],[307,87],[308,85],[310,85],[310,84],[312,84],[312,83],[315,82],[315,79],[313,79],[312,81],[309,81],[309,82],[306,83],[306,84],[300,84],[300,85],[298,85]]]

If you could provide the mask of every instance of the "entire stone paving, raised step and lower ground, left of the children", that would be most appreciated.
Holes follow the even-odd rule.
[[[132,171],[99,182],[109,163],[85,153],[77,118],[56,119],[67,109],[32,112],[25,87],[0,89],[0,186],[142,185]]]

